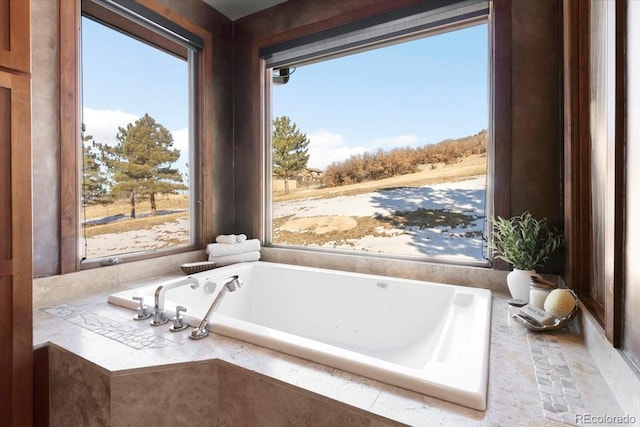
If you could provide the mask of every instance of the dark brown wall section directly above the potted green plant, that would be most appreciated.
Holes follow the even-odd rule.
[[[560,228],[561,9],[555,0],[516,0],[511,11],[511,209]]]

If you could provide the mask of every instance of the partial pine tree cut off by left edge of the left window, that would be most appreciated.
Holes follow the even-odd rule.
[[[85,132],[83,123],[81,127],[82,203],[84,205],[107,204],[112,201],[109,197],[109,178],[99,160],[100,156],[96,151],[93,136],[86,135]]]

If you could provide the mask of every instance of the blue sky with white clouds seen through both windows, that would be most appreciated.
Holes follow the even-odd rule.
[[[423,146],[488,128],[487,25],[298,67],[273,87],[273,116],[310,139],[309,165]],[[83,122],[97,142],[150,114],[188,147],[186,61],[82,20]],[[184,170],[186,156],[179,161]]]

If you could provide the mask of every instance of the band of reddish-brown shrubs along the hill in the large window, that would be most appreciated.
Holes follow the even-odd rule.
[[[326,187],[374,181],[417,172],[421,166],[436,163],[455,163],[471,154],[487,152],[487,131],[458,139],[445,139],[423,147],[378,150],[349,157],[327,167],[322,176]]]

